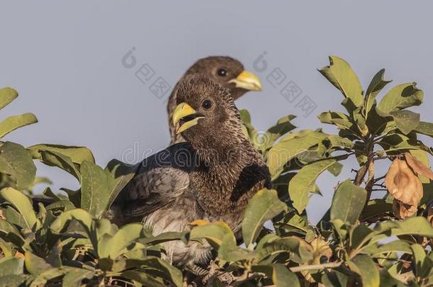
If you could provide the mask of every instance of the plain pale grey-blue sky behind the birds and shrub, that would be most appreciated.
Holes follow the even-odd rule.
[[[366,89],[385,68],[393,84],[417,81],[424,104],[412,109],[433,121],[433,18],[431,1],[0,1],[0,86],[20,96],[1,118],[31,111],[39,123],[7,140],[23,145],[58,143],[89,147],[102,167],[110,159],[143,159],[168,145],[165,100],[149,90],[158,77],[171,86],[187,67],[209,55],[229,55],[255,71],[266,53],[268,69],[256,71],[262,92],[236,102],[258,129],[287,114],[300,128],[323,127],[317,114],[341,110],[341,94],[317,68],[328,55],[344,57]],[[133,50],[136,65],[122,57]],[[148,82],[135,73],[148,64]],[[275,68],[302,89],[317,108],[309,115],[266,79]],[[390,85],[391,86],[391,85]],[[388,87],[389,89],[389,87]],[[432,140],[427,142],[430,146]],[[329,208],[333,187],[350,176],[324,174],[307,208],[315,222]],[[385,169],[379,169],[385,170]],[[72,176],[38,165],[54,188],[75,188]]]

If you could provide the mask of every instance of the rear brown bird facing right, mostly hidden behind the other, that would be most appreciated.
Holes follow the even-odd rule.
[[[181,80],[192,74],[206,74],[210,79],[230,89],[231,97],[239,99],[247,91],[261,91],[260,79],[243,68],[243,64],[232,57],[211,56],[197,60],[187,69]],[[181,134],[175,133],[172,125],[172,114],[176,106],[176,85],[167,102],[168,125],[170,129],[170,144],[185,142]]]

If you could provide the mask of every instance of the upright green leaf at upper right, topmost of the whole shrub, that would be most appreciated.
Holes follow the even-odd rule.
[[[340,57],[329,57],[330,65],[319,70],[351,103],[349,106],[361,106],[363,103],[362,86],[348,62]],[[350,108],[349,108],[350,109]]]

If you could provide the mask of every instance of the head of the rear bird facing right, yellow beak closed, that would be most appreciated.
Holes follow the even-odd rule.
[[[195,62],[186,72],[206,74],[210,79],[231,91],[231,97],[238,99],[247,91],[261,91],[261,81],[252,72],[246,71],[243,64],[232,57],[212,56]]]

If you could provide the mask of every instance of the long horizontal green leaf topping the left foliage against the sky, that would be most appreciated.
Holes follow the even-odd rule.
[[[84,161],[94,163],[93,154],[87,147],[39,144],[28,147],[28,150],[31,150],[35,159],[41,159],[40,152],[48,151],[69,157],[70,160],[75,164],[82,164]]]

